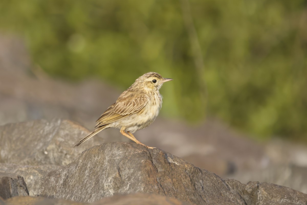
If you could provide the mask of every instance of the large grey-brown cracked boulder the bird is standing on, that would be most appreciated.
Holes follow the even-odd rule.
[[[153,193],[190,204],[245,204],[214,173],[160,149],[135,143],[108,143],[42,179],[39,195],[94,202],[115,194]]]

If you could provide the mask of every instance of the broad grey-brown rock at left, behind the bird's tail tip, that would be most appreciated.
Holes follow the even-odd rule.
[[[0,126],[0,163],[67,165],[86,148],[103,143],[93,137],[76,148],[89,131],[70,120],[33,120]]]

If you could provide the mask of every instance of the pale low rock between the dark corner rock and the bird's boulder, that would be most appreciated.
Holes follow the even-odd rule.
[[[20,175],[25,180],[30,196],[37,196],[41,178],[51,170],[60,168],[59,166],[46,164],[38,166],[0,164],[0,174],[11,173]]]

